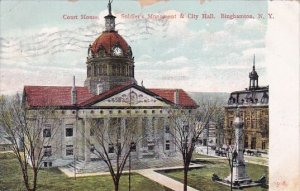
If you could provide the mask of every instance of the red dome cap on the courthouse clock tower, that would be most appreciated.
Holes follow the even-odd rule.
[[[97,53],[101,47],[105,49],[107,54],[110,54],[113,47],[119,46],[124,53],[128,53],[130,47],[124,38],[118,34],[116,31],[103,32],[92,44],[92,53]]]

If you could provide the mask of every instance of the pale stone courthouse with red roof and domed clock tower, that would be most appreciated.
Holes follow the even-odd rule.
[[[115,30],[116,17],[109,9],[104,18],[105,31],[88,49],[87,78],[83,87],[75,85],[75,77],[72,86],[24,87],[23,100],[28,110],[53,107],[60,116],[60,126],[55,135],[49,125],[45,127],[47,136],[56,136],[53,142],[43,145],[48,155],[45,166],[60,166],[65,164],[62,160],[73,161],[75,157],[85,161],[94,157],[90,145],[97,145],[93,143],[87,122],[90,119],[97,119],[103,124],[116,120],[125,128],[128,118],[136,118],[146,138],[137,143],[132,157],[174,156],[172,136],[165,130],[170,123],[168,110],[179,107],[191,113],[198,107],[182,89],[139,86],[135,80],[131,47]],[[59,148],[51,152],[54,145],[59,145]]]

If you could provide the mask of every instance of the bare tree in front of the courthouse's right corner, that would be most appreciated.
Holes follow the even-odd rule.
[[[199,141],[203,129],[207,127],[217,109],[217,102],[202,102],[197,110],[174,108],[169,111],[172,122],[171,135],[175,146],[179,149],[183,160],[184,188],[187,190],[189,166],[196,142]]]

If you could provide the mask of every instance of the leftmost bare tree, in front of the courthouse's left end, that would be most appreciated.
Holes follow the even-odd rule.
[[[41,164],[51,155],[49,145],[57,129],[57,120],[51,108],[30,111],[23,106],[18,94],[12,98],[1,97],[0,124],[10,137],[26,189],[35,191]]]

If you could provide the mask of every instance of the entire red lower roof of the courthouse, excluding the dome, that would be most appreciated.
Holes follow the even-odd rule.
[[[144,90],[146,93],[158,95],[162,99],[174,103],[175,89],[144,89],[136,84],[127,84],[115,87],[99,95],[90,93],[86,87],[76,87],[77,105],[82,107],[92,105],[130,87],[136,87],[141,91]],[[72,106],[71,88],[71,86],[25,86],[24,93],[27,104],[30,107]],[[179,90],[179,105],[197,107],[195,101],[182,89]]]

